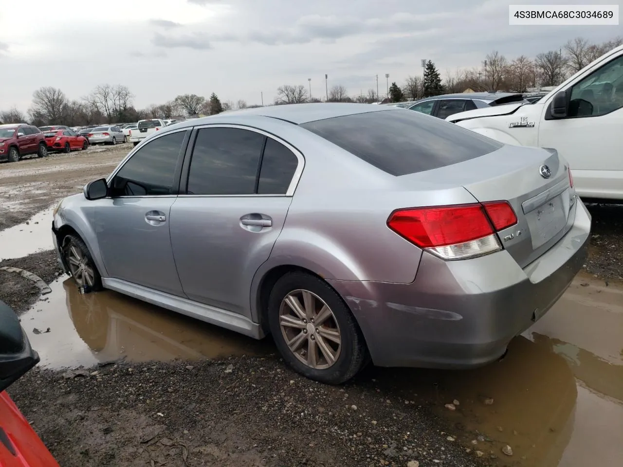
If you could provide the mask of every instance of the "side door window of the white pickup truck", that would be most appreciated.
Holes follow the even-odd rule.
[[[604,115],[622,106],[623,55],[573,85],[568,115]]]

